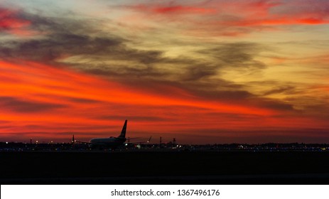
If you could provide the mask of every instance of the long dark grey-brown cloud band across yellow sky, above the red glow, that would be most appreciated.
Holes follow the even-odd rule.
[[[165,79],[179,76],[179,80],[201,80],[217,75],[219,68],[240,66],[261,68],[263,64],[254,60],[259,46],[254,43],[220,43],[215,48],[203,50],[203,54],[216,58],[213,61],[190,57],[166,58],[160,50],[136,50],[120,36],[99,31],[102,21],[74,20],[72,18],[50,18],[37,14],[19,12],[19,18],[31,21],[30,29],[41,33],[40,38],[15,40],[1,43],[1,58],[26,58],[54,61],[62,56],[83,55],[85,62],[70,63],[74,68],[95,72],[99,75],[134,75],[136,77],[161,76]],[[95,64],[94,61],[98,60]],[[129,60],[129,65],[99,64],[99,60]],[[53,63],[56,63],[53,62]],[[134,64],[135,63],[135,64]],[[156,65],[172,65],[170,70]],[[174,73],[174,74],[173,74]]]

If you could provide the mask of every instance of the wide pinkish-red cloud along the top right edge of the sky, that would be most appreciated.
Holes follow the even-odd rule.
[[[181,27],[186,28],[183,33],[194,36],[242,36],[253,31],[277,31],[279,26],[329,23],[327,1],[311,4],[307,0],[221,0],[184,5],[173,1],[171,4],[143,4],[126,8],[138,11],[146,21],[175,22],[173,26],[184,23]]]

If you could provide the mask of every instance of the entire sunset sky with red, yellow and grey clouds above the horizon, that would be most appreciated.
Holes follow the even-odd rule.
[[[329,143],[329,1],[0,1],[0,141]]]

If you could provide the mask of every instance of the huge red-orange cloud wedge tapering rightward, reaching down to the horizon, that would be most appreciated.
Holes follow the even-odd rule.
[[[212,101],[171,87],[164,93],[153,92],[40,63],[0,61],[0,77],[7,77],[0,78],[0,137],[45,132],[21,137],[51,135],[65,140],[71,134],[63,132],[74,131],[86,139],[108,136],[117,133],[124,119],[131,121],[131,134],[144,132],[139,136],[151,132],[188,136],[195,129],[203,129],[200,134],[217,131],[220,136],[225,129],[329,128],[313,118],[249,102]]]

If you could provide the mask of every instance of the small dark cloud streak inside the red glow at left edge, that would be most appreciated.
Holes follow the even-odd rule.
[[[50,104],[44,102],[29,102],[16,97],[0,97],[1,109],[11,109],[14,112],[45,112],[51,109],[65,107],[63,104]]]

